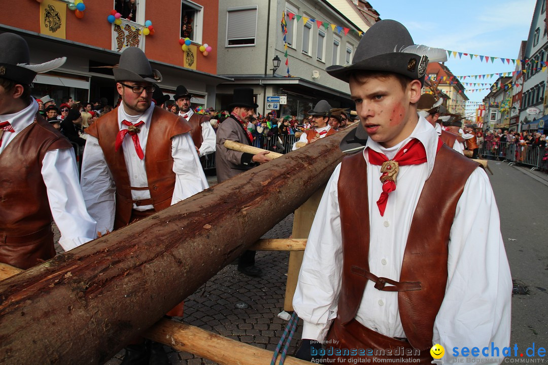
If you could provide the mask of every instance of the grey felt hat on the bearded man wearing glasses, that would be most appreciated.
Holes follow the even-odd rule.
[[[150,67],[150,62],[145,53],[137,47],[124,49],[118,67],[112,69],[112,72],[116,82],[162,82],[162,74],[157,69]]]

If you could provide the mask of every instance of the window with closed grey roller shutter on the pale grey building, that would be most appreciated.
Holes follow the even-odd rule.
[[[226,47],[255,45],[257,31],[257,7],[227,9]]]

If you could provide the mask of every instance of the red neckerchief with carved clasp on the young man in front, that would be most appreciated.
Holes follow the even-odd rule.
[[[442,140],[438,138],[437,150],[441,148],[442,144]],[[379,178],[380,181],[383,182],[383,192],[380,193],[379,200],[377,200],[377,206],[379,207],[379,212],[382,217],[386,210],[388,194],[396,190],[398,166],[424,164],[426,162],[426,150],[419,140],[413,138],[413,140],[399,149],[392,160],[389,160],[383,153],[376,152],[371,148],[368,148],[368,152],[370,164],[383,166],[380,170],[383,172],[383,175]]]

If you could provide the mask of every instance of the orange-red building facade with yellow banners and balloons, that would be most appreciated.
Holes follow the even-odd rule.
[[[31,63],[67,57],[61,68],[37,76],[33,96],[50,95],[58,105],[68,96],[78,101],[106,97],[110,105],[116,105],[112,67],[123,49],[135,46],[162,73],[159,86],[165,94],[173,95],[176,86],[184,84],[196,95],[196,105],[214,104],[216,85],[230,81],[216,76],[218,0],[176,0],[161,6],[136,0],[134,8],[127,5],[123,0],[87,1],[78,13],[56,0],[3,4],[2,13],[9,16],[3,17],[0,32],[24,37],[31,49]],[[107,19],[113,10],[124,14],[111,23]],[[189,51],[181,49],[183,34],[192,39]],[[204,43],[212,47],[207,56],[198,51]]]

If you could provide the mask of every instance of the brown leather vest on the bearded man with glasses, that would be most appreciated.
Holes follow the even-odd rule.
[[[149,124],[145,154],[145,170],[151,199],[143,201],[135,201],[132,198],[123,148],[118,149],[118,152],[115,151],[115,141],[119,130],[116,109],[99,118],[85,130],[87,134],[98,138],[99,146],[105,154],[106,164],[109,166],[116,184],[114,229],[128,225],[133,203],[138,206],[152,204],[156,211],[167,208],[171,204],[175,188],[172,138],[190,131],[190,125],[178,115],[164,111],[159,107],[154,108]],[[139,190],[143,190],[143,188],[139,188]]]

